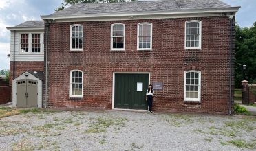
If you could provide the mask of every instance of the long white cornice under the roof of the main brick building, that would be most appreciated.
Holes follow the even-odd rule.
[[[150,11],[150,12],[116,12],[100,14],[71,14],[62,16],[43,15],[41,19],[54,19],[56,22],[63,21],[113,21],[131,19],[163,19],[193,16],[218,16],[220,13],[237,12],[240,7],[231,8],[209,8],[195,10],[167,10],[167,11]]]

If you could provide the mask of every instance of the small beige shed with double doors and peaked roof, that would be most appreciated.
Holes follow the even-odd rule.
[[[12,106],[43,107],[43,71],[25,71],[12,80]]]

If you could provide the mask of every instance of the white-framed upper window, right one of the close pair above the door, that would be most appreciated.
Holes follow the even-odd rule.
[[[137,49],[152,49],[152,23],[138,23]]]

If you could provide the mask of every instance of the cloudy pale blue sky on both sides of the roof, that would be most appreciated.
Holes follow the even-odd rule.
[[[256,21],[256,0],[222,0],[231,6],[241,6],[236,14],[240,27],[250,27]],[[63,0],[0,0],[0,70],[9,69],[10,31],[25,21],[41,20],[40,15],[52,14]]]

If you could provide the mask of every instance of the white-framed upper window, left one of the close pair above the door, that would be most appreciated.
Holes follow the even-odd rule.
[[[125,50],[125,24],[111,25],[111,50]]]

